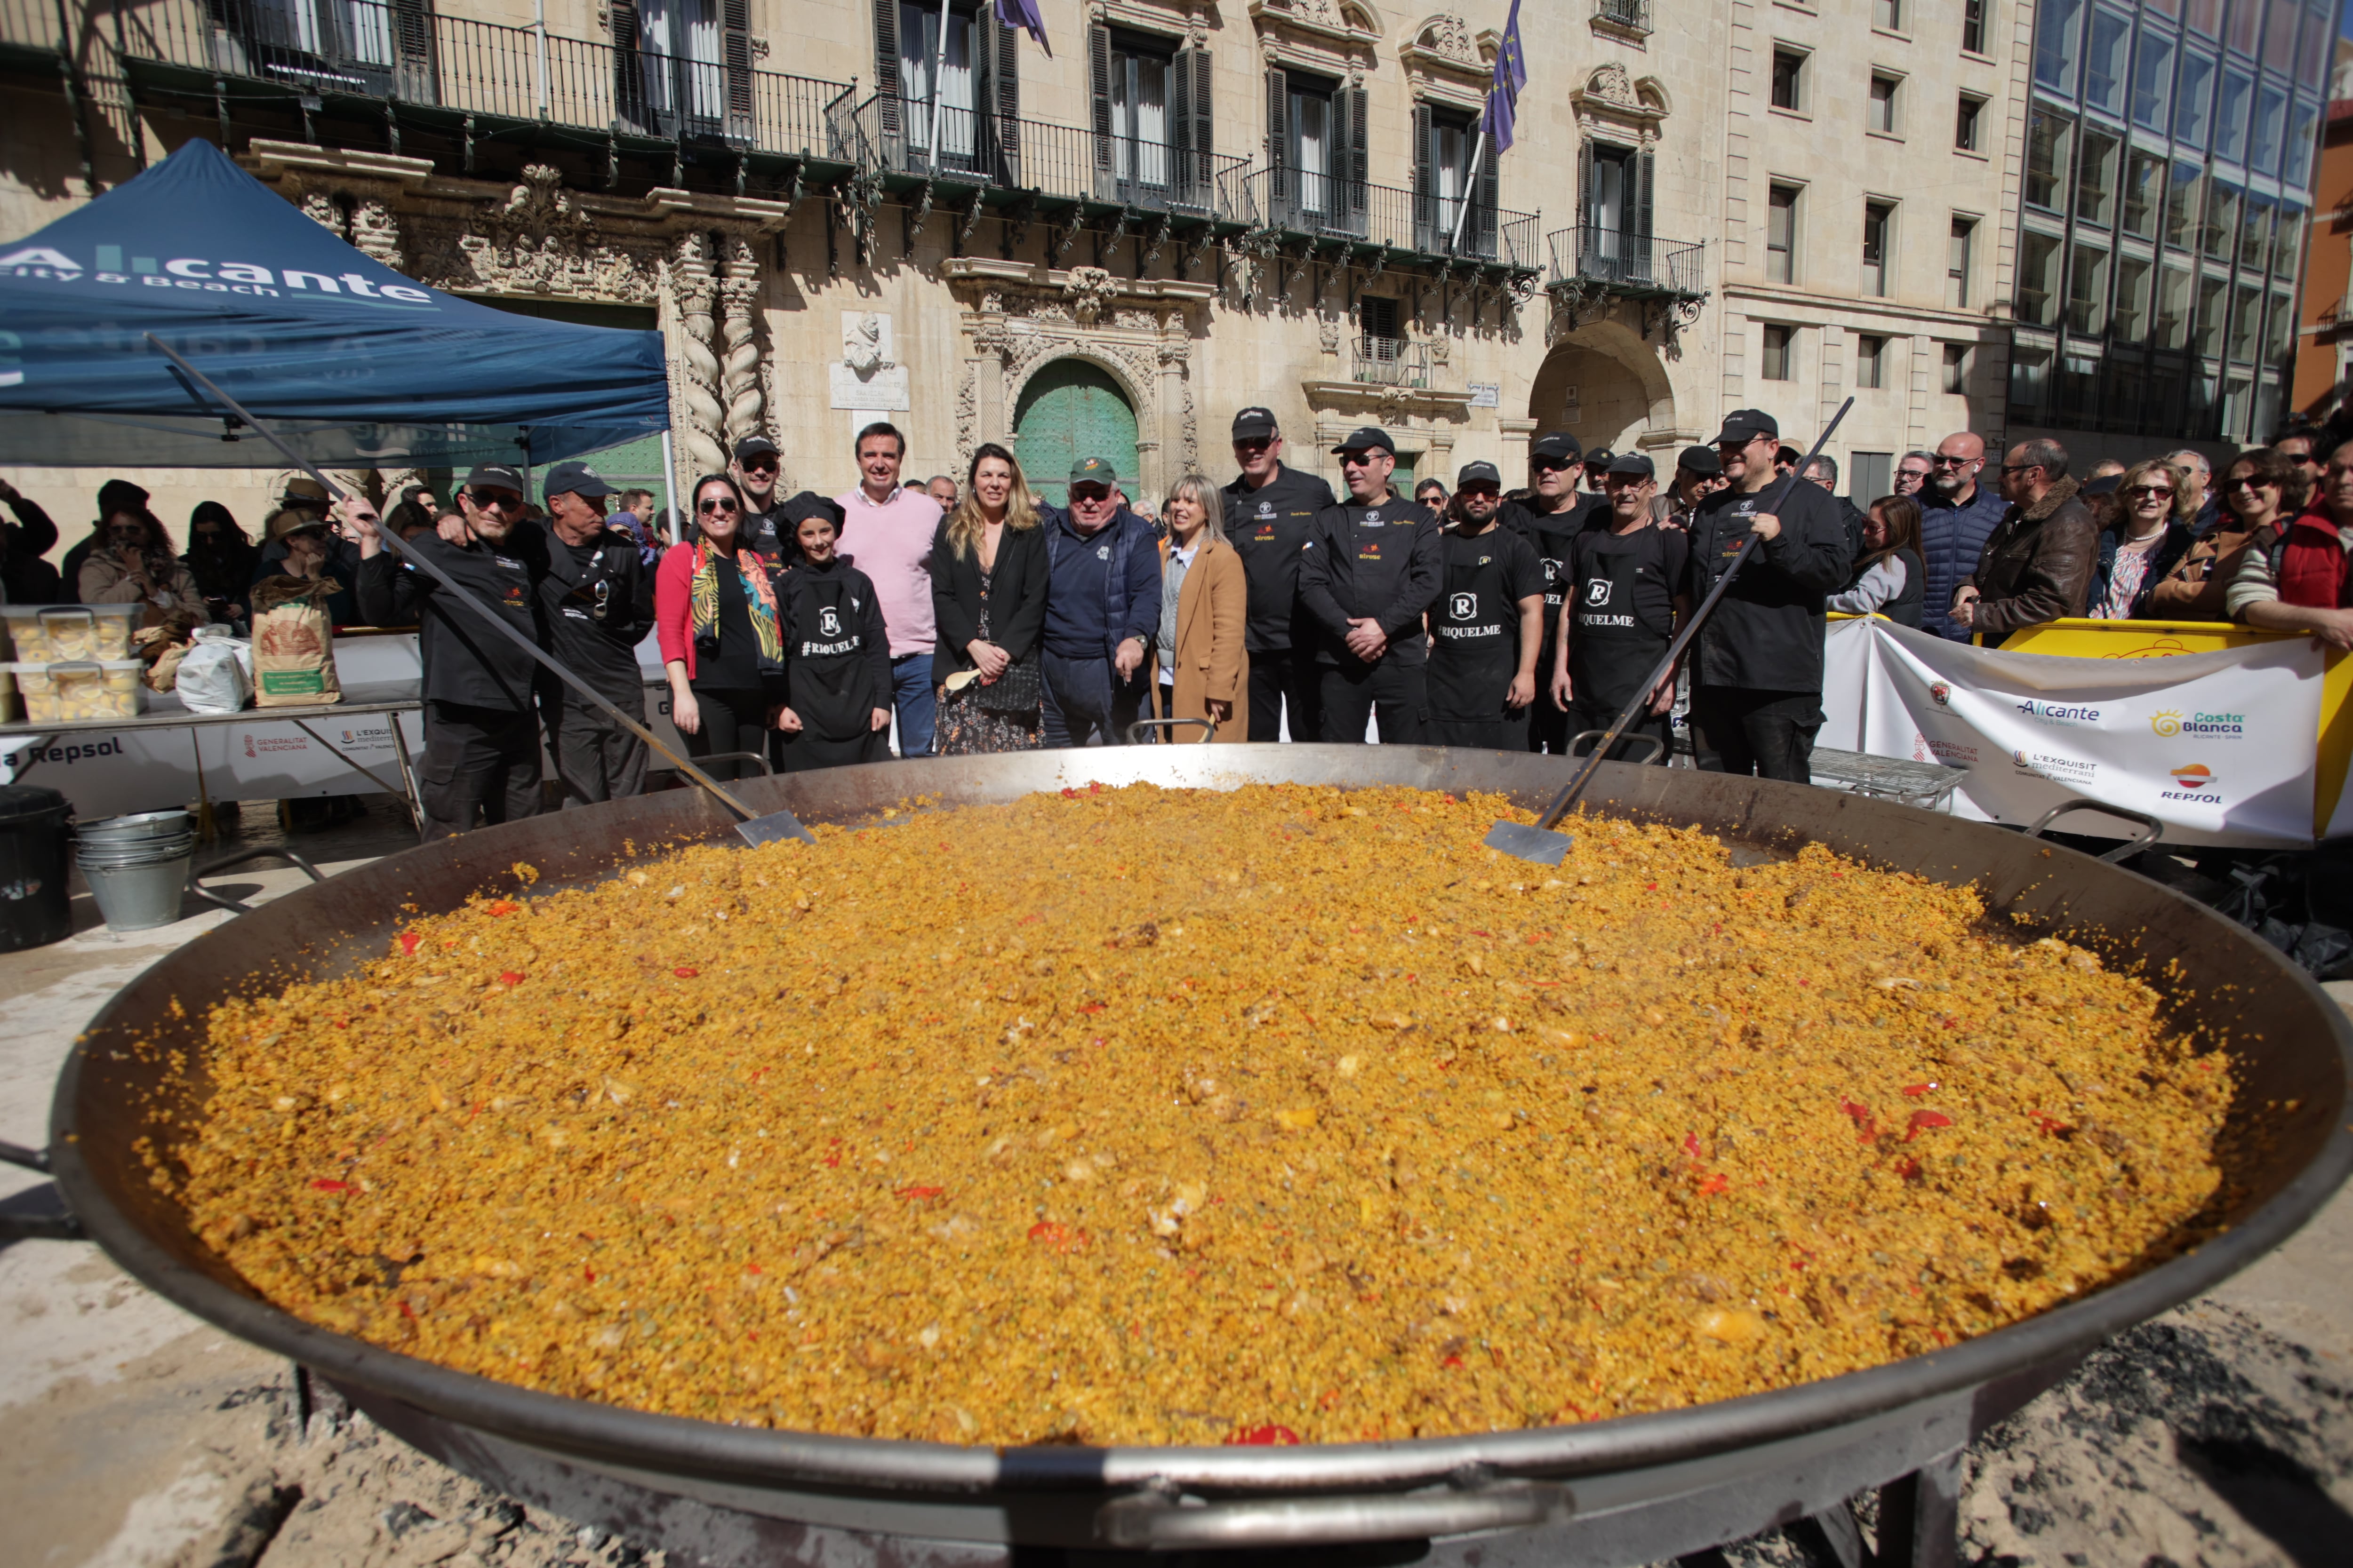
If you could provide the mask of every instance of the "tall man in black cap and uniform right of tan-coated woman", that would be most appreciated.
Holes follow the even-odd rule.
[[[1233,416],[1233,461],[1242,470],[1226,496],[1226,541],[1242,557],[1249,581],[1249,733],[1273,741],[1282,733],[1282,708],[1292,710],[1292,741],[1322,731],[1315,670],[1315,623],[1299,607],[1299,555],[1315,512],[1332,505],[1332,487],[1282,461],[1282,430],[1271,409]]]

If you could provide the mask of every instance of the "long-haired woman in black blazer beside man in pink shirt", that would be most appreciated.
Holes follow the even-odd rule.
[[[986,442],[972,454],[965,498],[932,538],[934,748],[941,757],[1024,752],[1038,745],[1045,686],[1045,531],[1038,496],[1012,451]]]

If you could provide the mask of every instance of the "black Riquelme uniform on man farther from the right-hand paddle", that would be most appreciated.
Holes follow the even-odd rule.
[[[1506,708],[1520,672],[1520,602],[1544,597],[1534,545],[1494,524],[1440,536],[1445,588],[1431,609],[1431,745],[1527,750],[1527,708]],[[1537,686],[1551,672],[1539,668]]]

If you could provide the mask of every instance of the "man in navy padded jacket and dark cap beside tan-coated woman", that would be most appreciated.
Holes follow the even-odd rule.
[[[1106,458],[1071,468],[1071,505],[1045,510],[1045,745],[1127,745],[1144,712],[1144,654],[1160,635],[1160,541],[1120,505]]]

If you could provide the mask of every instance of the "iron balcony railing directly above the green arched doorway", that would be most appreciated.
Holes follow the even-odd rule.
[[[1249,162],[1078,125],[875,94],[852,110],[859,162],[878,174],[965,181],[1139,212],[1242,221],[1226,193]]]

